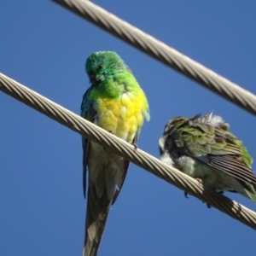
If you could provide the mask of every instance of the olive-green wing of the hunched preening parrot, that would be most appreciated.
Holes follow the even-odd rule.
[[[230,131],[221,127],[195,123],[190,119],[172,133],[172,149],[256,186],[247,149]]]

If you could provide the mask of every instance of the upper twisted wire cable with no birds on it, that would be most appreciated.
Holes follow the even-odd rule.
[[[179,53],[147,33],[131,26],[105,9],[87,0],[52,0],[73,11],[96,26],[100,26],[117,38],[124,40],[144,53],[172,67],[177,72],[193,79],[208,90],[212,90],[226,100],[235,103],[248,112],[256,114],[256,96],[239,85],[214,73],[188,56]]]

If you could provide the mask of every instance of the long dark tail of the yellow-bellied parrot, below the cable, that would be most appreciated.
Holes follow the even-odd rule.
[[[108,199],[104,183],[90,184],[87,196],[83,256],[96,256],[112,201]]]

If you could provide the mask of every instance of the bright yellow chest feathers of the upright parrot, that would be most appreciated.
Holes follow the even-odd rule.
[[[139,97],[124,92],[118,98],[98,98],[95,102],[95,124],[131,142],[138,126],[143,123]]]

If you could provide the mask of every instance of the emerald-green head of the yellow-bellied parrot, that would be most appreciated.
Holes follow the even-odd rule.
[[[129,68],[114,51],[97,51],[87,58],[85,70],[90,83],[96,85],[108,79],[108,76],[129,70]]]

